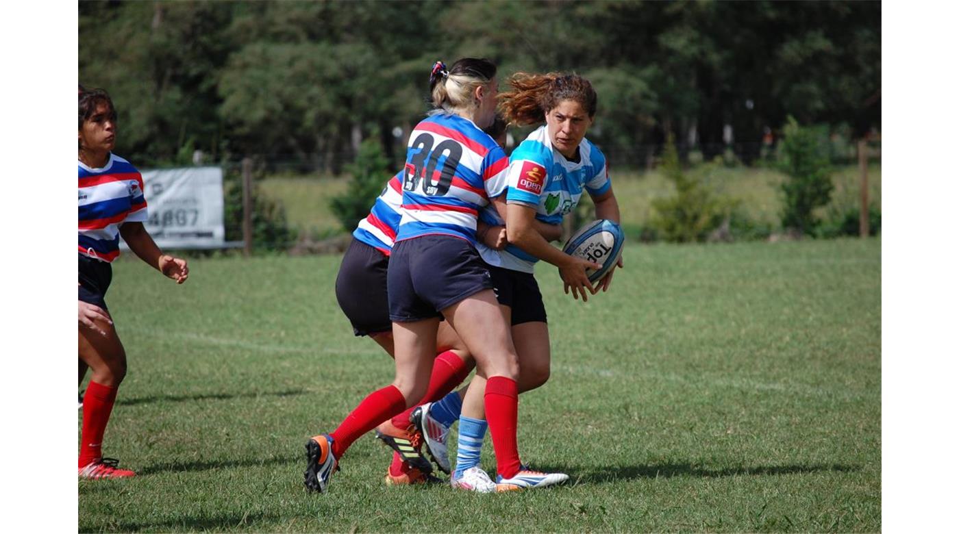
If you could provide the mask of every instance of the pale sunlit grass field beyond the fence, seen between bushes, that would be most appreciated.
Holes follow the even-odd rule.
[[[705,174],[706,168],[699,167],[690,173]],[[647,225],[652,216],[654,198],[672,195],[672,185],[658,171],[641,174],[614,170],[611,175],[620,202],[623,226],[630,230]],[[750,218],[774,226],[779,224],[782,210],[779,186],[784,178],[784,174],[761,168],[717,167],[709,173],[714,191],[741,200],[742,208]],[[346,190],[347,179],[277,176],[259,182],[259,186],[264,194],[283,203],[292,226],[311,235],[330,235],[343,230],[330,212],[329,199]],[[832,179],[835,184],[832,202],[818,212],[820,216],[859,205],[857,167],[839,167],[833,172]],[[870,200],[881,205],[882,169],[879,165],[870,167],[869,182]]]

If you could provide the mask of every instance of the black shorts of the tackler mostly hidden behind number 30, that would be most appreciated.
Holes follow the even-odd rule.
[[[337,302],[357,336],[392,330],[386,298],[388,265],[389,256],[356,238],[350,242],[339,264]]]

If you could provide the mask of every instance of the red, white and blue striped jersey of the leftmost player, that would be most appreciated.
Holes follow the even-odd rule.
[[[80,253],[112,262],[120,255],[120,225],[147,221],[143,176],[112,153],[102,169],[91,169],[79,160],[77,167]]]

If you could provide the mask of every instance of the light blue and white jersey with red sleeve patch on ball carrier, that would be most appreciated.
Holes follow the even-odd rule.
[[[584,137],[579,142],[579,161],[573,163],[553,149],[546,125],[533,130],[509,156],[506,180],[506,202],[536,208],[536,219],[548,224],[562,222],[579,203],[583,189],[598,197],[612,187],[606,157],[596,145]],[[492,204],[480,217],[487,224],[503,224]],[[483,261],[496,267],[532,272],[539,261],[513,244],[503,250],[478,244],[477,249]]]

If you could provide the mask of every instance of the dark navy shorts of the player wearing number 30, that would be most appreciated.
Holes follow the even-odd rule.
[[[389,318],[395,322],[442,317],[442,310],[493,289],[489,269],[476,247],[443,235],[394,244],[387,279]]]

